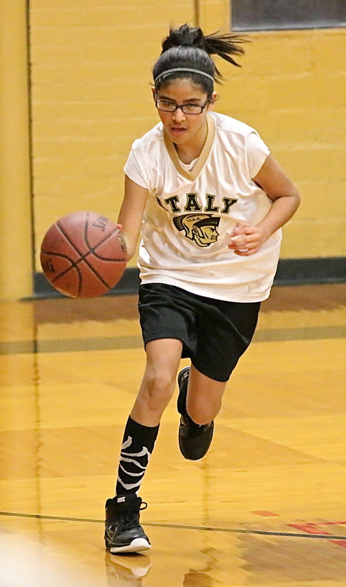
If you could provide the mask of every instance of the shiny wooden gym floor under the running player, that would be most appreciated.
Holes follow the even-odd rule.
[[[345,294],[273,288],[201,461],[174,396],[133,556],[105,552],[103,517],[145,363],[136,299],[0,303],[1,587],[346,585]]]

